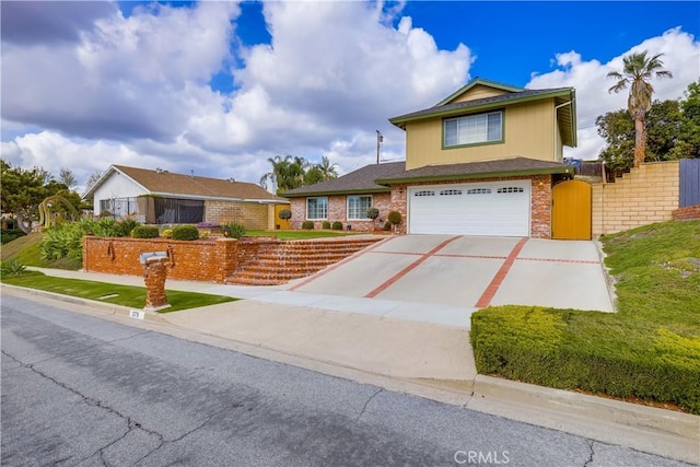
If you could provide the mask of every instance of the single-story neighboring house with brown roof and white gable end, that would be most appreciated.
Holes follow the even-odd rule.
[[[275,229],[276,206],[289,207],[255,184],[124,165],[112,165],[83,199],[92,200],[95,215],[159,225],[238,222],[249,230]]]

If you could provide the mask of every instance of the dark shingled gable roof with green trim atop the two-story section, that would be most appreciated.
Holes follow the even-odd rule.
[[[509,92],[490,97],[481,97],[471,101],[451,103],[454,98],[458,97],[476,85],[486,85],[489,87]],[[423,120],[429,118],[455,117],[459,115],[503,108],[509,105],[523,104],[526,102],[535,102],[546,98],[555,100],[555,105],[557,107],[557,119],[559,121],[562,143],[568,147],[575,148],[578,143],[576,91],[573,87],[521,90],[518,87],[508,86],[505,84],[476,79],[432,107],[424,108],[418,112],[411,112],[410,114],[399,115],[398,117],[389,118],[389,121],[398,128],[406,130],[406,124],[410,121]]]

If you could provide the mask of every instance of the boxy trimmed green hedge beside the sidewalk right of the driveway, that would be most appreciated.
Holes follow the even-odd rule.
[[[470,336],[479,373],[700,413],[700,339],[614,314],[515,305],[472,314]]]

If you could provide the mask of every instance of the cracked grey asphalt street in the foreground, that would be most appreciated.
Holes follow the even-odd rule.
[[[682,466],[2,296],[2,465]]]

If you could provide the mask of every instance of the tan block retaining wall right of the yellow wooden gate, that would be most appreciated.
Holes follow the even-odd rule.
[[[593,185],[593,235],[670,221],[678,209],[678,165],[645,163],[615,183]]]

